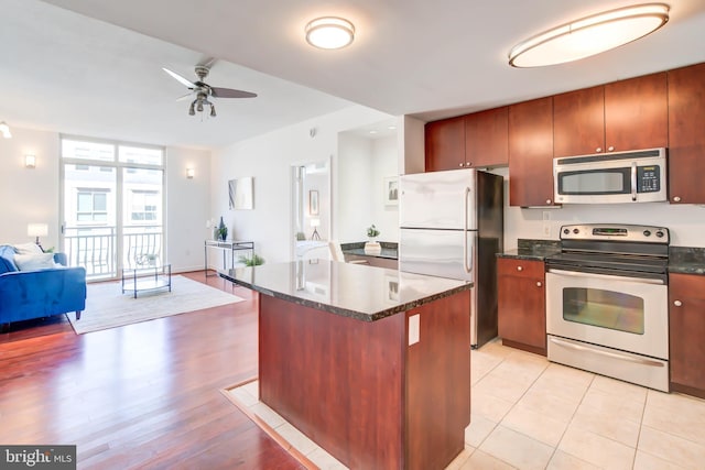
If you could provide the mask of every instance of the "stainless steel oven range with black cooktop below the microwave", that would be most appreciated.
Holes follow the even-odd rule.
[[[549,360],[669,391],[669,230],[561,228],[546,259]]]

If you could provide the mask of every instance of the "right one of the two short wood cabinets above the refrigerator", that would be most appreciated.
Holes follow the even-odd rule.
[[[506,166],[508,108],[465,116],[465,167]]]

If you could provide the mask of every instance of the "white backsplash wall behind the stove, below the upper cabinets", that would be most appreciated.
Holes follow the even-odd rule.
[[[509,207],[508,168],[492,173],[505,176],[505,249],[517,248],[517,239],[558,240],[558,230],[567,223],[634,223],[665,227],[671,245],[705,247],[705,206],[669,203],[565,205],[556,209]],[[509,179],[508,179],[509,177]],[[543,214],[551,221],[550,234],[543,232]]]

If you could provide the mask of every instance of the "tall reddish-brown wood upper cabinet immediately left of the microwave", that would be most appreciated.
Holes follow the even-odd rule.
[[[509,205],[553,205],[553,97],[509,107]]]

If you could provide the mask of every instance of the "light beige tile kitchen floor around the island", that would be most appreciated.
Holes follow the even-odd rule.
[[[705,469],[705,401],[551,363],[501,345],[473,351],[465,469]],[[229,393],[322,469],[345,469],[259,403],[257,382]]]

